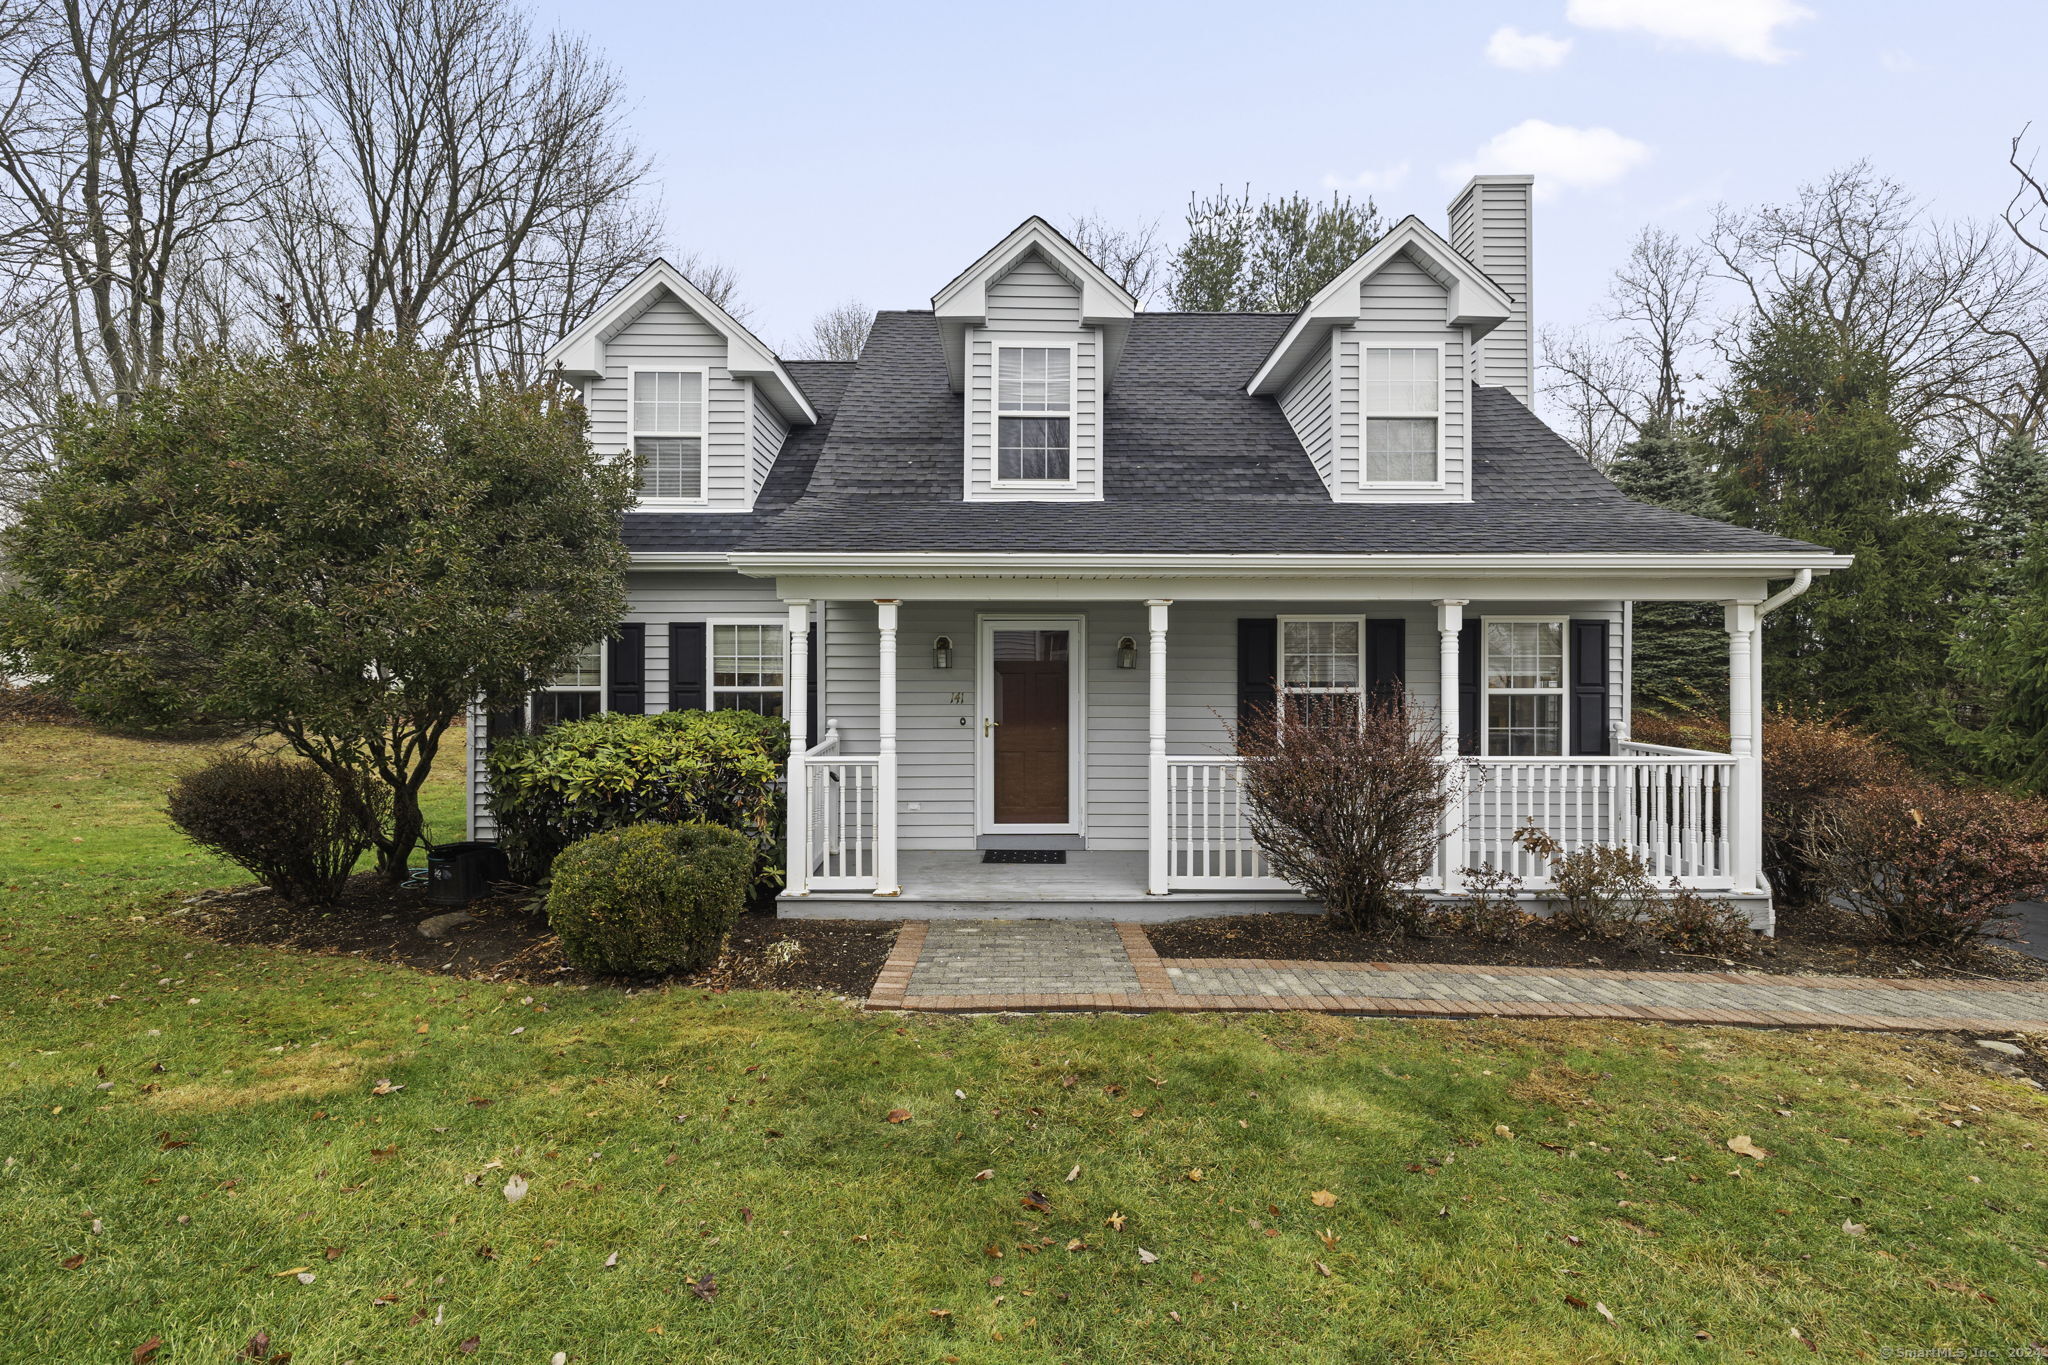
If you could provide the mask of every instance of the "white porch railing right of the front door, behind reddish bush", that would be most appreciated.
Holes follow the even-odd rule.
[[[1460,759],[1464,802],[1444,837],[1436,876],[1493,864],[1544,888],[1544,864],[1516,843],[1536,823],[1567,851],[1595,843],[1634,849],[1659,882],[1735,886],[1735,759],[1726,753],[1624,743],[1616,757]],[[1235,757],[1167,759],[1167,884],[1174,890],[1274,890],[1251,837]]]

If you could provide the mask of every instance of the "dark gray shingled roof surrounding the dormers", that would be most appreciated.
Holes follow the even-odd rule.
[[[1245,383],[1292,319],[1139,313],[1104,409],[1102,501],[963,501],[963,411],[930,313],[854,364],[793,362],[819,409],[752,514],[633,514],[635,551],[1784,553],[1817,546],[1622,497],[1505,389],[1473,389],[1468,503],[1335,503]]]

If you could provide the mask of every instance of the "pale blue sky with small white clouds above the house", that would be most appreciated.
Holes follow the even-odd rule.
[[[1872,158],[1944,215],[2048,131],[2040,0],[655,4],[541,0],[623,70],[670,235],[772,344],[930,295],[1030,213],[1190,190],[1370,190],[1442,225],[1460,172],[1538,174],[1538,325],[1581,321],[1642,223]],[[1503,35],[1505,31],[1505,35]],[[2048,137],[2044,137],[2048,141]],[[2048,160],[2048,158],[2044,158]]]

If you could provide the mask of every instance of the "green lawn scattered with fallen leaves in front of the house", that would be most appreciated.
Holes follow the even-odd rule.
[[[258,1330],[295,1365],[2007,1359],[2048,1334],[2048,1103],[1939,1042],[897,1019],[229,950],[170,915],[236,880],[160,814],[199,757],[0,729],[10,1361],[156,1336],[219,1363]]]

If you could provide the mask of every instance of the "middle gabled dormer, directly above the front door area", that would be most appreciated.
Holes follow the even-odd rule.
[[[932,297],[965,405],[963,497],[1102,497],[1102,403],[1137,299],[1044,219]]]

